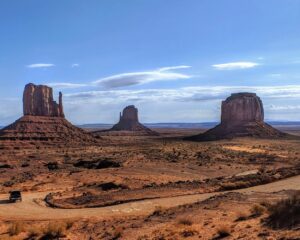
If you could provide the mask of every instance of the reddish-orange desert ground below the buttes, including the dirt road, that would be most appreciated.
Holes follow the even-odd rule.
[[[155,131],[0,142],[0,239],[300,238],[299,219],[277,223],[270,210],[299,197],[299,140],[192,142],[183,138],[203,130]],[[23,201],[8,203],[16,189]]]

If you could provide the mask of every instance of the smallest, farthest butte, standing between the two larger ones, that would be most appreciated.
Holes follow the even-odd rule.
[[[123,109],[123,113],[120,113],[120,119],[111,129],[100,132],[113,132],[123,131],[128,132],[130,135],[158,135],[157,132],[152,131],[139,122],[138,109],[134,105],[127,106]]]

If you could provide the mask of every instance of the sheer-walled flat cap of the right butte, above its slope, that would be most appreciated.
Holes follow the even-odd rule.
[[[240,125],[263,121],[263,104],[255,93],[234,93],[222,102],[221,124]]]

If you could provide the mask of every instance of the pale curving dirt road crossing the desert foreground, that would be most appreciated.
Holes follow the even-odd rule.
[[[277,192],[281,190],[300,190],[300,175],[278,182],[236,190],[241,193]],[[203,201],[224,193],[184,195],[169,198],[136,201],[110,207],[86,209],[55,209],[47,207],[42,199],[48,192],[24,193],[23,201],[7,203],[7,195],[0,195],[0,219],[3,220],[55,220],[67,218],[104,218],[118,215],[149,214],[155,207],[175,207],[178,205]]]

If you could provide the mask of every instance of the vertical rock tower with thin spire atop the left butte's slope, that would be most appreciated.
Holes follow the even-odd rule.
[[[64,118],[62,93],[59,103],[53,100],[52,88],[29,83],[23,93],[23,113],[29,116],[62,117]]]

